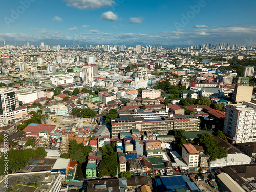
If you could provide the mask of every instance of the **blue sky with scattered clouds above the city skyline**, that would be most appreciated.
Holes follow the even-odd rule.
[[[2,0],[0,40],[256,46],[255,0]]]

